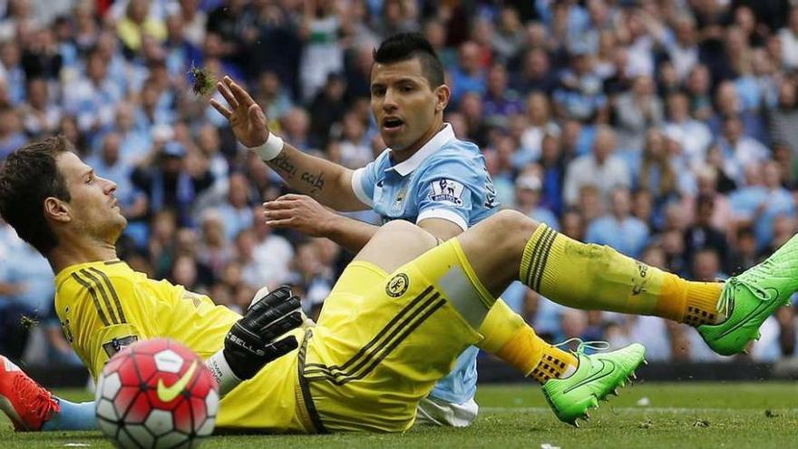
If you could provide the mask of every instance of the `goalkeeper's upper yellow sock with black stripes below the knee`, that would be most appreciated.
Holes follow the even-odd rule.
[[[581,243],[539,225],[524,248],[519,278],[560,304],[704,324],[717,317],[721,284],[688,282],[608,246]]]

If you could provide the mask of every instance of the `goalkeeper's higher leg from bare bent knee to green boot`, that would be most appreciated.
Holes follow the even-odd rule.
[[[492,294],[516,278],[569,307],[666,317],[697,327],[724,355],[744,350],[764,319],[798,290],[798,239],[725,283],[692,282],[607,246],[584,244],[502,211],[458,239]]]

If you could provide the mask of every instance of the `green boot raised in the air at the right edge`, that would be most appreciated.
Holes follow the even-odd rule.
[[[741,275],[726,280],[718,313],[723,323],[696,327],[716,353],[731,356],[744,352],[751,340],[760,337],[759,327],[774,311],[790,303],[798,290],[798,236],[793,236],[771,257]]]

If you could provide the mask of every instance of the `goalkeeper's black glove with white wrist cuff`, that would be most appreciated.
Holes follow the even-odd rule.
[[[227,395],[263,366],[296,349],[296,337],[277,337],[301,324],[299,298],[292,295],[290,288],[277,288],[255,298],[244,317],[230,328],[224,349],[206,362],[219,384],[219,395]]]

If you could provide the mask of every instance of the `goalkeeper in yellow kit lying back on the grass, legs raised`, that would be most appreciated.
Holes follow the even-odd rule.
[[[116,186],[71,150],[63,137],[34,142],[0,169],[0,214],[54,268],[65,334],[92,376],[135,339],[186,344],[229,391],[222,428],[404,431],[418,402],[469,345],[525,375],[537,373],[555,414],[576,424],[624,384],[644,349],[566,353],[523,322],[494,326],[495,298],[511,281],[572,307],[693,323],[721,354],[744,350],[798,289],[798,239],[725,284],[696,283],[502,211],[441,245],[413,224],[384,225],[345,269],[316,327],[303,330],[298,300],[284,289],[241,317],[119,261],[114,243],[126,220]],[[48,424],[68,415],[66,401],[3,361],[0,404],[16,428],[52,429]],[[21,400],[31,393],[37,400]]]

